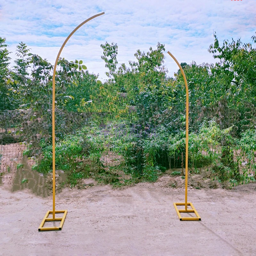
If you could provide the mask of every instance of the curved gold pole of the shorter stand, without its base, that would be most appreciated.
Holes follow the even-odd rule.
[[[169,55],[172,57],[173,60],[177,63],[177,65],[180,68],[180,71],[182,73],[183,79],[185,81],[185,86],[186,86],[186,166],[185,166],[185,210],[187,211],[188,209],[188,83],[187,83],[187,78],[185,76],[185,73],[183,71],[183,68],[180,66],[180,63],[176,58],[172,55],[171,52],[169,52]]]

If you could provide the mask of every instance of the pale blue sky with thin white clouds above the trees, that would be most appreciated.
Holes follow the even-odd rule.
[[[11,57],[24,42],[32,53],[52,64],[69,33],[99,12],[70,38],[61,57],[81,59],[90,72],[106,79],[100,44],[118,44],[118,62],[128,65],[137,49],[148,51],[165,44],[169,76],[177,71],[167,51],[179,62],[214,62],[207,52],[213,31],[222,42],[233,37],[251,42],[256,31],[255,0],[94,0],[0,1],[0,36],[6,38]]]

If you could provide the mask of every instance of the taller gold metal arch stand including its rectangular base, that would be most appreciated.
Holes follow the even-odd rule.
[[[66,215],[68,213],[68,210],[60,210],[60,211],[55,211],[55,74],[56,74],[56,68],[57,68],[57,64],[58,64],[58,60],[60,58],[60,53],[63,49],[63,47],[65,46],[65,44],[68,42],[68,39],[76,32],[76,30],[78,28],[80,28],[81,26],[83,26],[86,22],[88,22],[89,20],[92,20],[100,15],[104,14],[104,12],[101,12],[99,14],[96,14],[94,16],[92,16],[91,18],[85,20],[84,22],[82,22],[79,26],[77,26],[71,33],[70,35],[67,37],[67,39],[65,40],[65,42],[62,44],[62,46],[60,47],[60,51],[57,55],[55,64],[54,64],[54,68],[53,68],[53,75],[52,75],[52,211],[48,211],[45,216],[44,219],[42,220],[38,230],[39,231],[44,231],[44,230],[61,230]],[[55,213],[63,213],[63,216],[60,218],[56,218],[55,217]],[[48,218],[49,214],[52,214],[52,218]],[[59,227],[45,227],[44,228],[44,223],[45,221],[60,221],[60,226]]]

